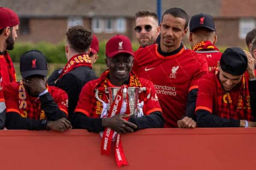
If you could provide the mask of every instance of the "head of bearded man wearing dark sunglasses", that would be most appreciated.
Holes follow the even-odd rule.
[[[134,30],[140,43],[140,48],[152,45],[160,34],[157,14],[151,11],[138,11],[135,14],[136,26]]]

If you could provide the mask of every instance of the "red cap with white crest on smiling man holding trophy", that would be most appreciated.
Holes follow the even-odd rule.
[[[114,57],[120,53],[128,53],[134,56],[134,52],[131,47],[131,41],[124,35],[117,34],[108,40],[106,44],[106,56]]]

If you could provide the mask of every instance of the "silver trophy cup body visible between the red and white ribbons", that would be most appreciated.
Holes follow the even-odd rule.
[[[120,87],[108,88],[110,105],[112,105],[113,100],[115,99],[119,89]],[[128,117],[131,115],[137,116],[139,91],[140,91],[140,88],[138,87],[128,87],[127,92],[128,92],[128,99],[129,99],[130,114],[122,114],[123,117]]]

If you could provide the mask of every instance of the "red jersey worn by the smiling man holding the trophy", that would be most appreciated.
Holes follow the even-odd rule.
[[[130,82],[132,80],[130,79]],[[100,79],[92,80],[84,85],[79,96],[79,100],[75,109],[75,112],[84,113],[86,116],[91,118],[100,118],[102,109],[101,102],[96,100],[95,96],[95,86],[100,82]],[[144,102],[143,113],[144,115],[149,115],[155,111],[162,112],[160,104],[158,102],[156,90],[152,82],[146,79],[140,79],[141,86],[146,87],[150,90],[150,98]],[[131,84],[131,83],[130,83]],[[113,85],[108,81],[108,87],[113,87]],[[139,99],[141,98],[139,94]]]

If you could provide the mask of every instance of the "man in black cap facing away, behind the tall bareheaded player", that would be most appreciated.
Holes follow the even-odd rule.
[[[209,71],[215,69],[221,52],[214,45],[217,42],[216,28],[212,16],[196,14],[189,22],[189,41],[193,51],[207,59]]]

